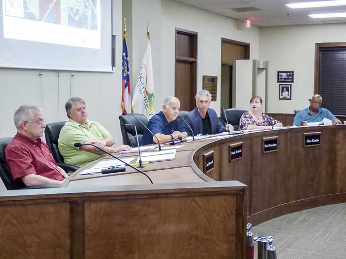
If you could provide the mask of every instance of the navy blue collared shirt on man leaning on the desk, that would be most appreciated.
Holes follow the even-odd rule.
[[[168,120],[166,119],[165,114],[162,111],[156,113],[149,120],[147,127],[154,133],[154,135],[159,133],[164,135],[171,135],[176,130],[185,132],[179,121],[177,121],[176,119],[168,123]],[[142,145],[148,145],[152,143],[154,143],[153,135],[148,130],[146,130],[142,137]]]

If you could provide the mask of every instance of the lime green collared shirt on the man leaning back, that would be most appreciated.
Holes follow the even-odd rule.
[[[78,122],[70,119],[60,131],[58,148],[64,157],[65,163],[82,167],[106,154],[95,154],[80,148],[75,148],[75,143],[83,143],[87,140],[101,140],[107,135],[109,135],[109,132],[98,122],[86,120],[86,125],[82,126]]]

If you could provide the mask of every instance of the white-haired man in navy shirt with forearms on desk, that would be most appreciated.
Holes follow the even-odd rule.
[[[179,114],[180,102],[176,97],[167,97],[162,104],[162,111],[156,113],[149,120],[147,127],[155,134],[160,143],[166,143],[175,139],[186,138],[187,133],[176,120]],[[156,138],[146,130],[142,137],[142,145],[157,143]]]

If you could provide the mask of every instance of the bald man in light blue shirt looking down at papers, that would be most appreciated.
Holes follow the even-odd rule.
[[[324,118],[330,119],[333,125],[341,124],[332,112],[322,108],[322,97],[315,94],[309,99],[310,106],[298,112],[294,117],[293,126],[304,126],[308,122],[321,122]]]

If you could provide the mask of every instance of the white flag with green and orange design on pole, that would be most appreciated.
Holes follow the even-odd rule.
[[[150,119],[155,114],[153,63],[151,59],[151,41],[148,27],[147,48],[142,65],[139,68],[136,88],[132,98],[134,113],[142,113]]]

